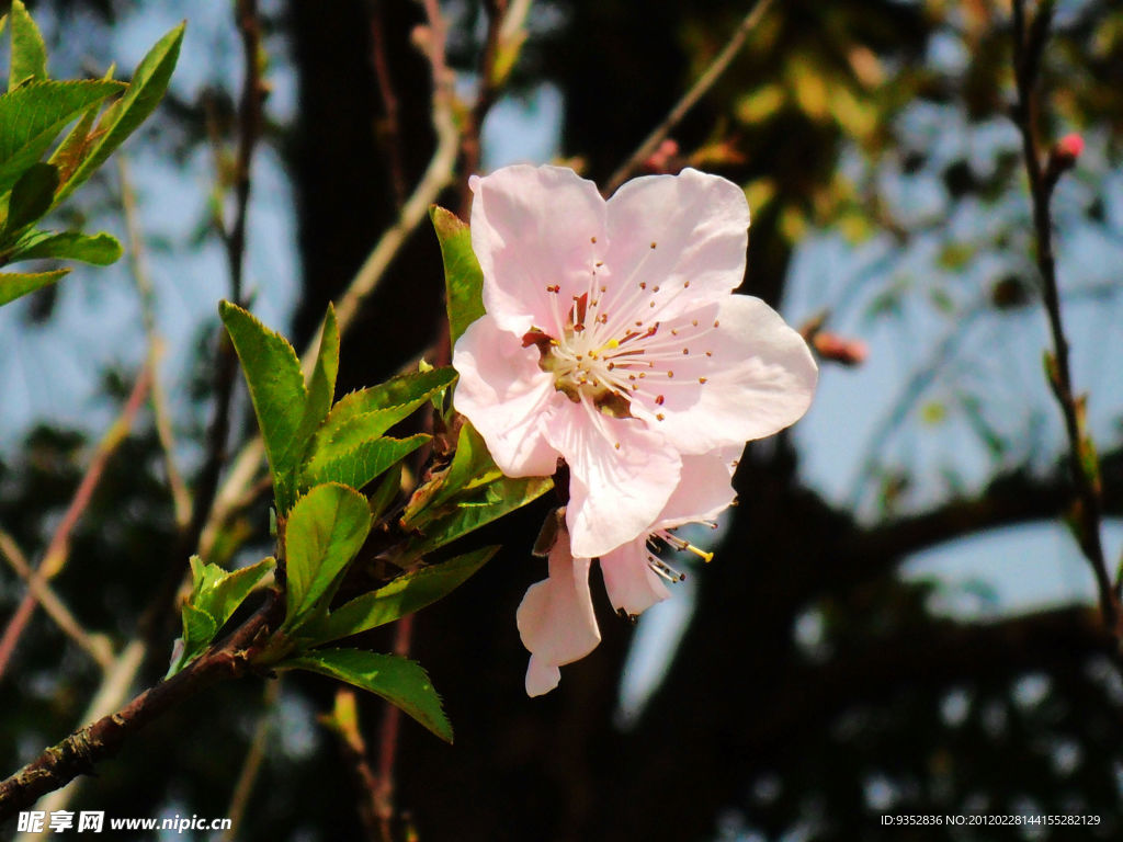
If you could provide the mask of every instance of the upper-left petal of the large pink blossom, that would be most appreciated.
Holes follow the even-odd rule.
[[[593,287],[608,247],[596,185],[565,167],[523,165],[469,184],[484,306],[505,330],[522,336],[537,327],[556,338],[574,298]]]

